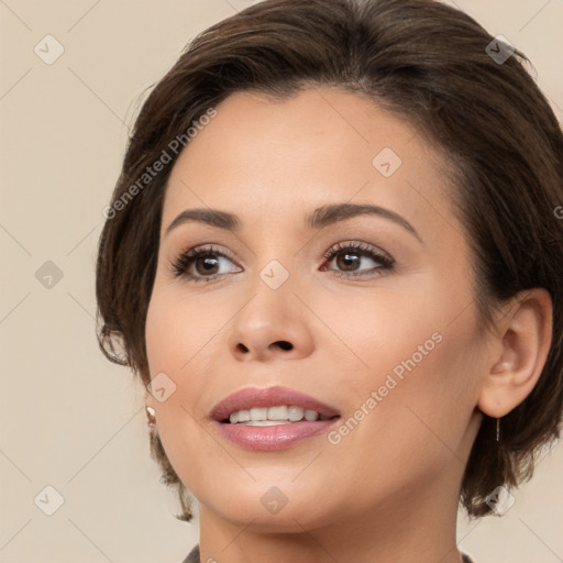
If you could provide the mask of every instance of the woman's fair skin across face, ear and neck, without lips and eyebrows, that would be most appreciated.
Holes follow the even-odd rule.
[[[369,100],[330,88],[275,103],[240,92],[216,109],[172,170],[145,333],[151,377],[176,385],[146,402],[198,499],[201,561],[459,563],[459,489],[482,411],[501,417],[533,388],[550,345],[549,296],[527,291],[499,311],[497,330],[478,330],[440,157]],[[372,164],[384,147],[402,161],[389,177]],[[376,214],[303,227],[316,208],[342,202],[390,210],[416,234]],[[189,221],[166,234],[194,208],[233,213],[240,231]],[[350,242],[394,265],[357,251],[323,257]],[[216,279],[174,277],[178,255],[210,244],[228,254]],[[347,271],[345,254],[361,257]],[[277,289],[260,277],[274,260],[289,273]],[[201,260],[189,273],[211,275]],[[324,433],[252,451],[209,418],[233,391],[283,385],[336,407],[342,423],[435,333],[336,444]],[[261,503],[272,486],[288,500],[277,514]]]

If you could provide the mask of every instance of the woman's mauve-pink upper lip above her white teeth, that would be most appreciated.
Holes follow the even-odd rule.
[[[340,416],[335,408],[329,407],[324,402],[301,391],[280,386],[246,387],[235,391],[218,402],[211,410],[210,416],[213,420],[222,421],[238,410],[250,410],[253,407],[277,407],[280,405],[316,410],[320,416],[327,418]]]

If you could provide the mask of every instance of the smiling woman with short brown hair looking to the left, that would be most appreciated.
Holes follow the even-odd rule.
[[[558,438],[563,136],[525,60],[429,0],[268,0],[151,92],[99,339],[198,500],[186,562],[468,562],[460,501],[501,514]]]

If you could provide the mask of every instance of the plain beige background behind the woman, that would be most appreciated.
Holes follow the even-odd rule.
[[[251,3],[0,1],[2,563],[179,563],[197,542],[148,457],[142,389],[98,350],[93,267],[139,96],[197,32]],[[561,120],[563,0],[456,4],[530,56]],[[52,65],[34,53],[47,34],[65,49]],[[35,274],[47,261],[63,274],[52,288]],[[561,561],[562,470],[560,444],[505,517],[460,519],[461,549]],[[53,516],[34,504],[47,485],[65,499]]]

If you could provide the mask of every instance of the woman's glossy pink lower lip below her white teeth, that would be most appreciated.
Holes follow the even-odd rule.
[[[219,431],[224,438],[241,448],[272,451],[291,448],[306,438],[322,434],[338,420],[336,418],[316,422],[288,422],[274,427],[246,427],[227,422],[217,422],[217,424],[219,424]]]

